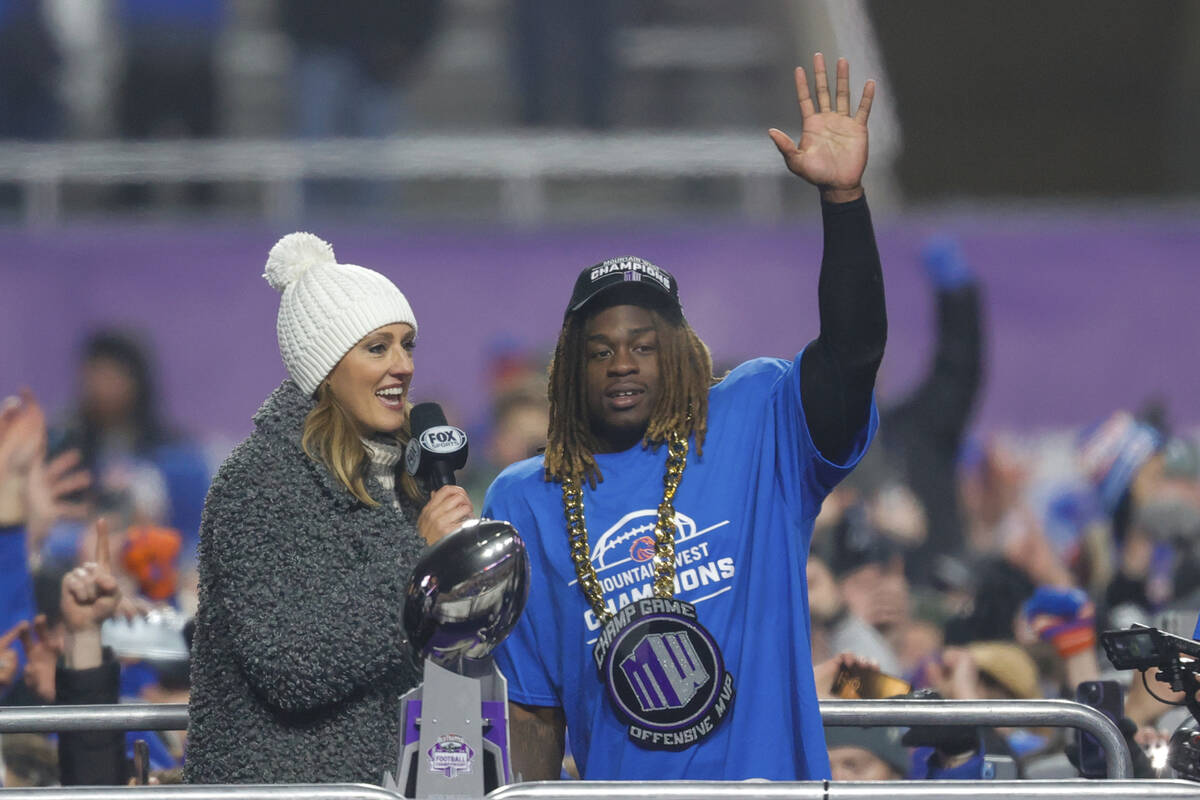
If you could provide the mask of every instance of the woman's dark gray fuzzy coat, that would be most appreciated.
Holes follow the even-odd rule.
[[[398,699],[419,681],[401,625],[419,509],[367,506],[308,458],[311,408],[284,381],[209,491],[191,783],[379,783],[396,769]]]

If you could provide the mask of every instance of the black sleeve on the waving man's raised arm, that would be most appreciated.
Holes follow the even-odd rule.
[[[800,397],[812,443],[845,461],[866,425],[888,338],[883,272],[866,198],[821,203],[821,333],[804,350]]]

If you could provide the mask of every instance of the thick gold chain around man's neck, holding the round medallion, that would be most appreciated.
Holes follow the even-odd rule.
[[[683,468],[686,464],[688,438],[672,431],[667,437],[667,464],[662,474],[662,503],[659,504],[659,518],[654,524],[655,597],[671,597],[674,594],[674,493],[679,488]],[[583,519],[583,488],[580,486],[578,479],[574,476],[563,479],[563,512],[566,516],[566,536],[580,588],[596,619],[607,622],[612,619],[612,613],[604,607],[604,589],[600,587],[595,565],[592,564],[588,528]]]

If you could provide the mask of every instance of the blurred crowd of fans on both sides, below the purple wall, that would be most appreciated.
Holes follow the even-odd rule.
[[[818,691],[1074,699],[1088,681],[1116,681],[1139,775],[1163,774],[1162,742],[1182,717],[1162,700],[1177,698],[1112,670],[1097,633],[1136,621],[1192,634],[1196,444],[1152,402],[1068,434],[974,435],[985,287],[954,241],[929,242],[924,260],[937,314],[929,372],[907,396],[881,398],[880,439],[816,524],[806,577]],[[491,345],[491,413],[466,426],[460,476],[475,507],[500,469],[545,443],[545,360],[516,342]],[[155,374],[146,341],[100,330],[82,345],[71,408],[43,409],[30,390],[0,408],[5,704],[187,698],[214,464],[163,417]],[[10,391],[17,378],[4,377]],[[863,679],[880,673],[888,680]],[[178,780],[178,733],[7,734],[4,786],[143,780],[131,766],[139,741],[156,778]],[[830,728],[828,744],[835,780],[1090,769],[1060,729]]]

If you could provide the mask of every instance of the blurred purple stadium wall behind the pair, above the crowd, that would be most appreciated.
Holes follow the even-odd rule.
[[[989,356],[977,423],[1074,426],[1151,395],[1200,422],[1200,224],[1118,215],[881,219],[890,339],[881,396],[925,368],[931,299],[919,263],[937,230],[962,242],[986,288]],[[276,294],[259,277],[281,231],[188,228],[0,230],[0,393],[28,384],[70,403],[74,351],[97,324],[152,335],[172,419],[235,439],[283,377]],[[484,413],[490,347],[548,354],[576,271],[638,254],[674,271],[692,325],[721,363],[790,355],[816,335],[820,229],[804,227],[318,229],[340,260],[392,277],[420,320],[414,399]]]

